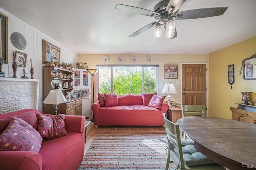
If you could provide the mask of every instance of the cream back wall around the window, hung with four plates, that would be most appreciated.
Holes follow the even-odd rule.
[[[159,64],[159,80],[160,86],[159,91],[160,95],[168,95],[162,94],[162,89],[164,88],[164,84],[167,82],[174,83],[175,88],[178,94],[171,94],[173,101],[177,103],[181,103],[182,101],[182,75],[181,75],[181,64],[182,63],[208,63],[208,54],[150,54],[152,57],[152,62],[146,62],[146,57],[149,56],[148,54],[109,54],[108,62],[104,62],[102,59],[105,54],[78,54],[78,61],[82,63],[87,63],[89,68],[95,68],[96,65],[108,65],[108,64]],[[118,63],[117,57],[122,56],[124,61],[122,63]],[[132,63],[131,57],[136,56],[137,62]],[[164,64],[172,64],[178,65],[178,79],[164,79]],[[180,84],[177,85],[176,81],[179,81]]]

